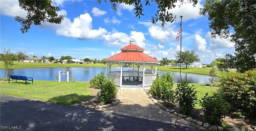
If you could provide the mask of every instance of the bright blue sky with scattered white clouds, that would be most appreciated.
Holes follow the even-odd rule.
[[[151,16],[158,10],[151,3],[144,6],[145,16],[135,17],[134,6],[118,4],[117,11],[111,9],[110,2],[97,4],[94,0],[53,0],[64,14],[62,23],[42,23],[33,25],[28,33],[22,34],[20,23],[15,16],[26,17],[26,12],[18,6],[18,0],[0,0],[0,53],[10,49],[13,53],[26,51],[26,55],[60,59],[70,55],[75,59],[90,58],[102,60],[120,52],[120,49],[135,40],[144,53],[156,57],[175,59],[180,51],[176,35],[182,19],[182,51],[195,51],[202,64],[209,64],[226,53],[234,53],[234,43],[229,39],[212,38],[209,33],[207,16],[200,16],[199,0],[196,7],[182,4],[172,9],[176,21],[162,28],[161,22],[151,23]],[[178,5],[180,3],[177,3]]]

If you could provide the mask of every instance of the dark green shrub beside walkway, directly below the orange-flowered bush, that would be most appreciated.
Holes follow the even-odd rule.
[[[220,123],[220,120],[225,117],[230,109],[230,104],[216,93],[213,96],[208,96],[208,93],[206,93],[204,98],[201,99],[200,105],[204,111],[204,119],[211,124]]]

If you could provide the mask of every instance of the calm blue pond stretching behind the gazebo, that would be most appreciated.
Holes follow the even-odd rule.
[[[111,71],[118,71],[120,67],[112,67]],[[124,71],[137,70],[129,67],[124,67]],[[105,75],[107,68],[82,68],[82,67],[62,67],[62,68],[18,68],[11,69],[8,74],[25,75],[27,77],[32,77],[34,80],[55,80],[55,75],[59,74],[59,71],[69,71],[69,77],[73,76],[74,81],[90,81],[95,75],[99,74],[100,71],[104,71]],[[146,70],[150,72],[151,70]],[[157,71],[160,75],[167,73],[168,71]],[[171,72],[174,76],[174,83],[180,82],[180,72]],[[0,77],[6,77],[6,70],[0,70]],[[8,76],[9,77],[9,76]],[[206,83],[209,82],[210,76],[202,74],[192,74],[181,72],[181,80],[187,81],[188,83]],[[61,81],[66,81],[66,75],[61,75]]]

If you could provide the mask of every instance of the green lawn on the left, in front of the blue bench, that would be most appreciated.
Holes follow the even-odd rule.
[[[18,80],[17,83],[15,81],[2,82],[0,94],[66,105],[88,100],[91,95],[91,90],[87,87],[89,82],[34,80],[33,84],[32,82],[28,83],[25,85],[23,80]]]

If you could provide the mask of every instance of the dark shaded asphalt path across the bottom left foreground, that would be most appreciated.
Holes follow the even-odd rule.
[[[0,95],[0,127],[13,131],[203,131],[80,108]],[[20,129],[21,128],[21,129]]]

